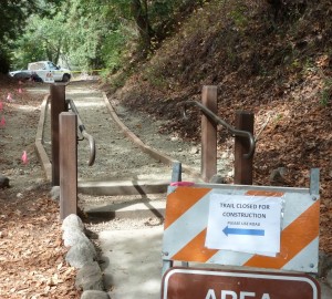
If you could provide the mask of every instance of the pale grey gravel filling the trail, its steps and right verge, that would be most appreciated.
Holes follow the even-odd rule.
[[[72,99],[80,113],[86,132],[91,134],[96,144],[96,158],[92,167],[87,166],[90,147],[86,141],[80,141],[77,146],[77,171],[79,181],[116,181],[116,179],[170,179],[172,167],[162,164],[143,153],[133,142],[124,137],[118,125],[113,121],[106,109],[103,94],[96,83],[73,83],[66,86],[66,99]],[[200,145],[185,142],[176,134],[160,134],[160,125],[165,122],[154,116],[129,111],[121,103],[111,101],[113,109],[122,122],[144,144],[164,153],[165,155],[180,161],[200,172]],[[80,137],[80,134],[79,134]],[[50,105],[46,113],[43,143],[45,151],[51,157],[51,128]],[[219,174],[226,175],[230,172],[231,157],[219,159]],[[184,181],[190,177],[183,174]],[[191,178],[193,179],[193,178]],[[166,194],[148,196],[91,196],[79,194],[79,206],[84,210],[85,206],[112,205],[118,203],[135,204],[138,202],[165,200]],[[111,221],[86,223],[86,228],[92,233],[105,229],[143,228],[162,225],[159,218],[142,219],[113,219]]]

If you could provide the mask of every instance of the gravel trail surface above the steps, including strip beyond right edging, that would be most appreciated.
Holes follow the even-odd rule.
[[[170,178],[172,167],[152,158],[139,151],[137,145],[124,137],[105,106],[103,94],[93,83],[73,83],[66,86],[66,97],[72,99],[89,134],[96,143],[96,158],[92,167],[87,166],[90,147],[86,141],[79,142],[79,179],[165,179]],[[114,105],[117,115],[146,145],[165,153],[172,158],[189,165],[199,173],[200,148],[190,142],[184,142],[177,135],[159,134],[162,121],[149,115],[133,113],[121,105]],[[80,137],[80,134],[79,134]],[[45,150],[51,156],[50,113],[45,122]],[[229,167],[220,163],[220,171]]]

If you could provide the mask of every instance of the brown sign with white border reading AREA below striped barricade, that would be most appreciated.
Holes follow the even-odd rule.
[[[163,277],[162,299],[320,299],[309,275],[266,271],[170,268]]]

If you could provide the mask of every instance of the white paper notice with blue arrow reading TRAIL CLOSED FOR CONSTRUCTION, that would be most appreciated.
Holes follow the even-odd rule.
[[[281,197],[211,194],[205,246],[276,256],[281,210]]]

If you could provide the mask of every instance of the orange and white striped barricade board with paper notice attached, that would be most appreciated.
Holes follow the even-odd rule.
[[[169,186],[163,272],[188,261],[315,274],[319,217],[318,168],[310,188]]]

